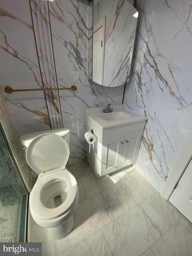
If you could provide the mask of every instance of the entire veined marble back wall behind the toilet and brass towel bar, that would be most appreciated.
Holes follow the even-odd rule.
[[[59,99],[53,92],[46,93],[46,97],[44,92],[6,95],[19,135],[60,127],[61,109],[63,125],[71,131],[70,165],[86,160],[85,109],[108,103],[121,104],[124,90],[124,86],[103,88],[88,80],[88,42],[91,36],[88,4],[88,0],[3,0],[0,3],[0,54],[4,62],[0,76],[3,87],[70,87],[68,70],[80,72],[80,83],[76,84],[78,90],[62,91]]]

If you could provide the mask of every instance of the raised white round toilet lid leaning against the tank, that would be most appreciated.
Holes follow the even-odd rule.
[[[26,150],[26,161],[36,173],[65,169],[69,158],[66,141],[56,134],[37,136]]]

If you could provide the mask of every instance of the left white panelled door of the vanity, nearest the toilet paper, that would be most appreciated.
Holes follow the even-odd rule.
[[[101,176],[120,169],[124,135],[102,140]]]

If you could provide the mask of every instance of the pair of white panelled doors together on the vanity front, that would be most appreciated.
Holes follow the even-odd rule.
[[[101,176],[136,162],[143,130],[102,140]]]

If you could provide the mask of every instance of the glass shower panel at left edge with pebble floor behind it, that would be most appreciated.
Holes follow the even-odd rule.
[[[27,202],[0,124],[0,242],[26,242]]]

